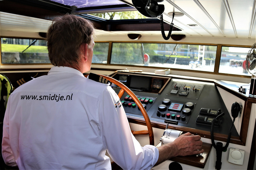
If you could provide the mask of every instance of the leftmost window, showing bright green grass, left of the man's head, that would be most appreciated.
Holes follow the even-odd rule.
[[[46,41],[1,38],[1,63],[50,63]]]

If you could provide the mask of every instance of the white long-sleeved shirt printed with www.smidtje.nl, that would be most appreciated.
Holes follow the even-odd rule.
[[[10,95],[2,155],[19,169],[151,169],[158,149],[140,146],[109,84],[70,67],[52,67]]]

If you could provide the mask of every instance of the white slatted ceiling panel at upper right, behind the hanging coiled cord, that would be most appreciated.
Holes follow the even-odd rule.
[[[131,0],[127,2],[132,4]],[[167,15],[169,12],[184,13],[182,17],[174,17],[173,23],[186,36],[255,38],[255,22],[252,25],[255,3],[254,0],[165,0],[159,4],[165,6],[167,23],[172,21],[172,16]]]

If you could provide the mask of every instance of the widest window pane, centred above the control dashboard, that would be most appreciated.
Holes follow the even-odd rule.
[[[146,65],[214,72],[217,46],[113,43],[110,64]]]

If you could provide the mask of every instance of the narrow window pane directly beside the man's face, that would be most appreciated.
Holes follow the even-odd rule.
[[[107,64],[108,46],[108,42],[95,42],[95,45],[93,47],[92,63]]]

